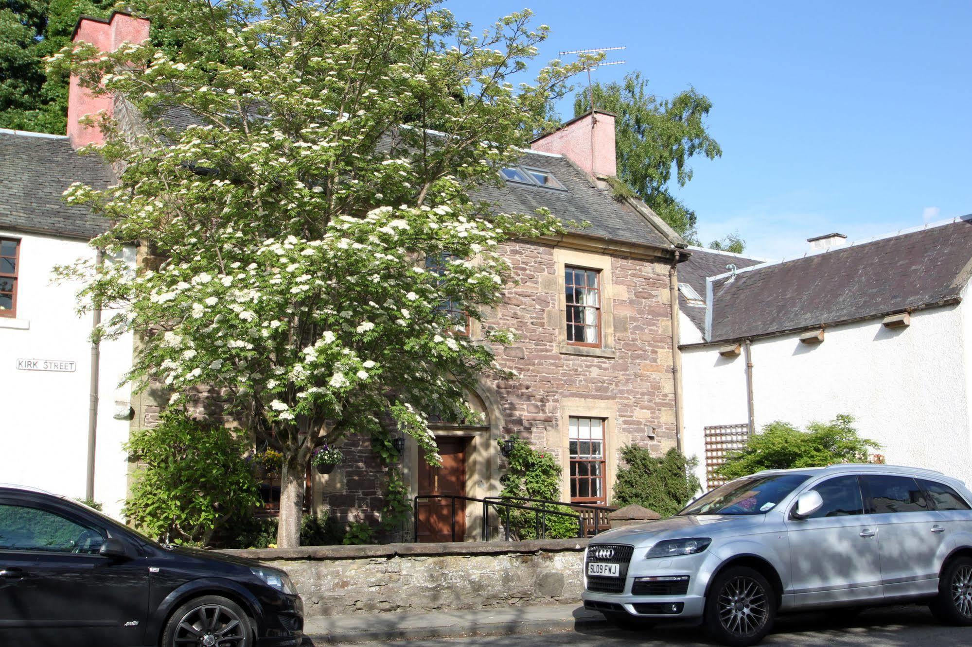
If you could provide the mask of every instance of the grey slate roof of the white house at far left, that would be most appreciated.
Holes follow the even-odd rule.
[[[61,197],[74,182],[105,188],[114,176],[99,156],[75,153],[67,137],[0,131],[0,228],[84,240],[104,232],[108,221]]]

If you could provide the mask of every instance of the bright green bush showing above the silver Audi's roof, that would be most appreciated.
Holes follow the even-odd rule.
[[[761,469],[823,467],[838,462],[868,462],[871,449],[881,445],[861,438],[853,417],[843,414],[829,423],[811,423],[806,431],[777,421],[763,427],[746,447],[730,455],[719,466],[726,479],[746,476]]]

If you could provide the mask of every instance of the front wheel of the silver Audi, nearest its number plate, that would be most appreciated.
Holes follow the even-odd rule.
[[[712,580],[703,625],[712,639],[731,647],[761,641],[773,629],[777,593],[763,575],[748,566],[730,566]]]

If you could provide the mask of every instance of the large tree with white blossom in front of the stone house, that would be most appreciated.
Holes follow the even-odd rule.
[[[93,245],[142,241],[159,259],[134,275],[61,273],[86,281],[83,302],[117,309],[100,334],[145,340],[129,376],[139,388],[163,382],[173,403],[219,389],[283,455],[278,545],[289,547],[316,446],[400,431],[437,460],[424,412],[472,415],[463,390],[498,370],[491,344],[512,333],[484,325],[491,344],[469,341],[454,312],[481,321],[500,300],[503,241],[561,226],[495,213],[472,189],[499,181],[589,61],[553,61],[514,88],[508,77],[547,33],[529,12],[477,38],[432,0],[222,10],[164,5],[169,23],[198,30],[191,56],[125,44],[52,58],[124,96],[143,123],[97,119],[121,184],[66,199],[116,222]]]

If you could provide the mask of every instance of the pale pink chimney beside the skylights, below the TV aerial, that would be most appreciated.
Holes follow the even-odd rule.
[[[534,151],[562,154],[594,178],[617,175],[614,116],[599,110],[566,121],[530,145]]]

